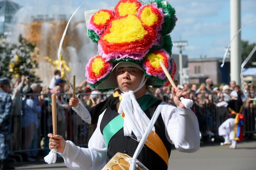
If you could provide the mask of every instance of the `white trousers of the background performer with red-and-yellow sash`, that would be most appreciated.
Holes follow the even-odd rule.
[[[227,119],[219,127],[219,135],[225,139],[225,142],[231,141],[231,146],[236,146],[236,141],[234,140],[234,127],[234,118]]]

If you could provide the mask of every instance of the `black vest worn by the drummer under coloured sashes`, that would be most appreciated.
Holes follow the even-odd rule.
[[[145,114],[148,116],[149,119],[152,118],[157,106],[162,101],[159,100],[153,105],[151,105],[147,110],[145,110]],[[101,123],[100,123],[100,131],[103,134],[104,127],[112,120],[114,119],[119,113],[117,112],[116,104],[108,107],[102,117]],[[158,119],[155,123],[155,129],[158,136],[163,141],[168,155],[170,156],[171,153],[171,143],[167,140],[165,136],[165,125],[162,119],[161,114],[158,116]],[[133,138],[137,139],[134,133],[132,133]],[[129,136],[124,136],[124,129],[120,129],[109,141],[108,144],[108,156],[106,163],[109,162],[109,160],[117,153],[127,153],[129,156],[133,156],[139,142],[132,139]],[[148,148],[146,145],[144,145],[143,149],[141,150],[138,158],[137,158],[143,165],[145,165],[149,170],[156,170],[156,169],[167,169],[167,165],[164,162],[164,160],[158,156],[153,150]]]

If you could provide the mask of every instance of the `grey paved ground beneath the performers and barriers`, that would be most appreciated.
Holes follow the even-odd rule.
[[[66,170],[63,161],[48,165],[44,161],[17,163],[16,169],[24,170]],[[255,170],[256,141],[238,143],[237,149],[215,144],[202,145],[195,153],[181,153],[173,149],[168,170]]]

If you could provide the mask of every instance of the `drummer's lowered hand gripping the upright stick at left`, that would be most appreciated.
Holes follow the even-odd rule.
[[[57,152],[62,153],[65,148],[65,140],[60,135],[53,135],[52,133],[48,134],[48,137],[50,138],[49,142],[49,149],[57,149]]]

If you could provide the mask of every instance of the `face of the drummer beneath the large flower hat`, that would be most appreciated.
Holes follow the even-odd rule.
[[[135,67],[120,67],[116,81],[123,91],[135,90],[142,80],[143,72]]]

